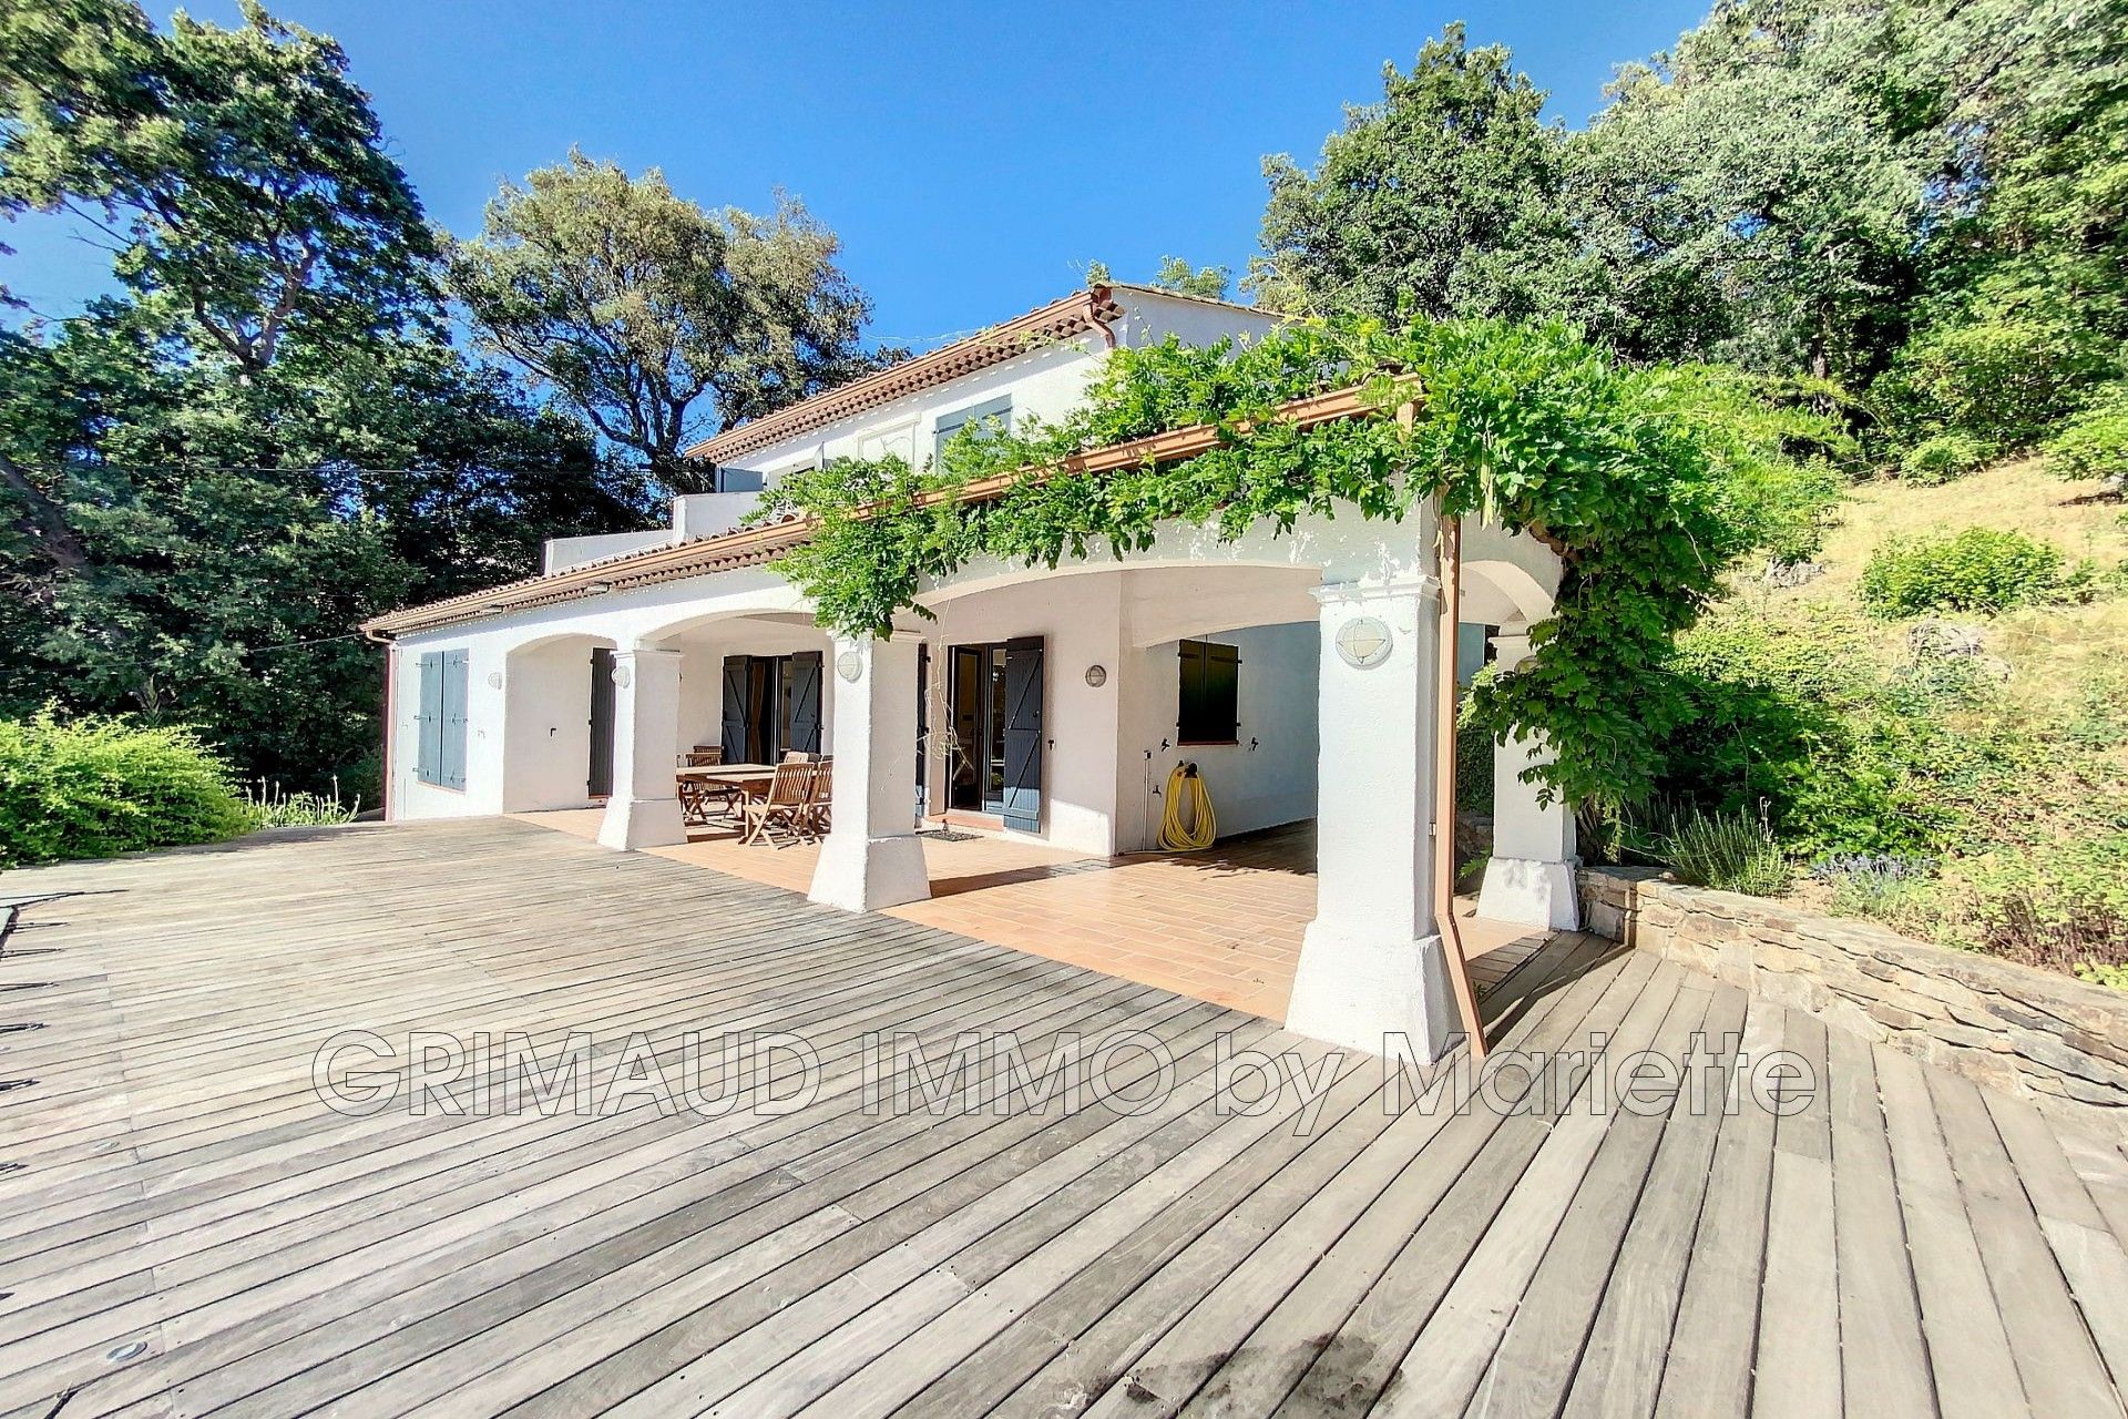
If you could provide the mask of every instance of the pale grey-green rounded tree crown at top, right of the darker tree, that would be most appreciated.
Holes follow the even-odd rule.
[[[1883,368],[1945,157],[1902,113],[1896,53],[1885,4],[1745,0],[1626,66],[1568,183],[1602,272],[1587,323],[1647,357]]]

